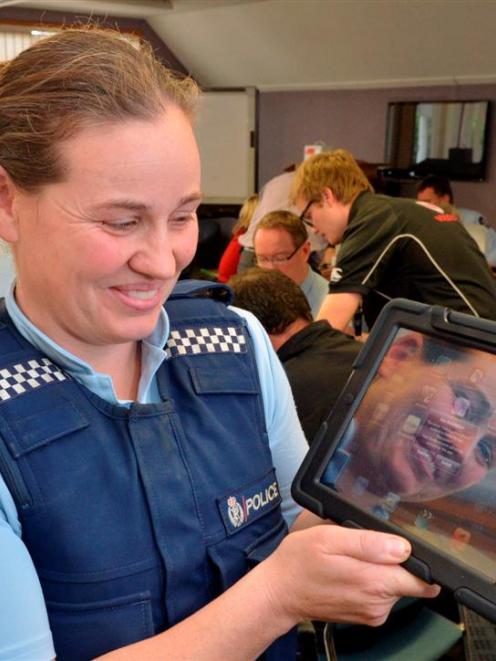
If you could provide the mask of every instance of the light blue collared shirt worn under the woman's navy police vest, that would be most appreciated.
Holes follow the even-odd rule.
[[[21,335],[102,399],[124,406],[131,404],[117,399],[109,375],[95,372],[88,363],[37,329],[19,309],[13,290],[14,286],[7,295],[6,307]],[[253,339],[283,515],[291,525],[301,511],[291,498],[291,482],[308,445],[296,415],[289,383],[267,334],[249,312],[232,309],[246,319]],[[138,387],[138,401],[142,403],[160,401],[156,373],[167,359],[162,347],[168,336],[169,320],[162,310],[154,332],[142,341],[142,373]],[[14,501],[0,477],[0,661],[50,661],[55,657],[55,650],[43,595],[21,536]]]

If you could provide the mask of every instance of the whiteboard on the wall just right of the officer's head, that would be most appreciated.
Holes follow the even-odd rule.
[[[204,202],[241,204],[256,190],[255,88],[204,91],[195,125]]]

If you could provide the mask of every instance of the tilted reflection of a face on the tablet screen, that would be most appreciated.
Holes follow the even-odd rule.
[[[496,356],[401,331],[357,409],[337,484],[432,500],[496,465]]]

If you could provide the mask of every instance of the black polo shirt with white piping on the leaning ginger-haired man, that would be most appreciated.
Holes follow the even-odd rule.
[[[364,192],[351,206],[330,293],[363,296],[370,327],[399,296],[496,320],[496,283],[456,216]]]

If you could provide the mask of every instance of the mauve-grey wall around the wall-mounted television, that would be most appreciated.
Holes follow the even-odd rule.
[[[454,182],[460,207],[477,209],[496,226],[496,85],[409,87],[358,91],[262,92],[259,115],[259,186],[289,163],[301,160],[303,145],[319,140],[344,147],[373,163],[384,159],[390,101],[490,99],[487,181]],[[411,188],[413,192],[413,187]]]

